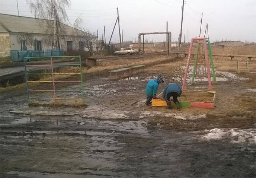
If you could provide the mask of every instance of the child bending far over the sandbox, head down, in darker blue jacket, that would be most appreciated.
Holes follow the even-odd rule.
[[[179,101],[177,100],[178,96],[181,96],[182,90],[181,87],[177,83],[171,83],[167,85],[163,91],[163,98],[167,103],[167,109],[172,109],[170,97],[173,97],[173,102],[177,106],[177,109],[180,109]]]

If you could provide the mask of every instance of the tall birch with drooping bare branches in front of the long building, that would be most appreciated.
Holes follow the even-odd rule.
[[[54,35],[53,55],[59,41],[61,23],[68,21],[65,7],[70,7],[70,0],[27,0],[30,11],[35,17],[47,19],[46,31]]]

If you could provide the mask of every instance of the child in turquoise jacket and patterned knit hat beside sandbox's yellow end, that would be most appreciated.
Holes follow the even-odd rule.
[[[147,95],[146,105],[151,103],[152,98],[158,99],[156,97],[156,92],[158,90],[159,83],[164,83],[163,77],[158,75],[155,79],[150,80],[146,86],[145,93]]]

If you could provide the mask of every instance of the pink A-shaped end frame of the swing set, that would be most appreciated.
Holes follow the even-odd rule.
[[[208,57],[208,50],[206,46],[206,39],[205,38],[192,38],[190,42],[190,47],[189,47],[189,56],[188,56],[188,62],[186,64],[186,69],[185,69],[185,74],[184,74],[184,79],[183,79],[183,84],[182,84],[182,90],[185,89],[185,83],[186,83],[186,78],[188,76],[188,70],[189,70],[189,60],[192,52],[192,46],[193,42],[195,40],[203,40],[203,46],[204,46],[204,54],[205,54],[205,63],[206,63],[206,68],[207,68],[207,77],[208,77],[208,84],[209,84],[209,90],[212,90],[212,84],[211,84],[211,71],[210,71],[210,62],[209,62],[209,57]]]

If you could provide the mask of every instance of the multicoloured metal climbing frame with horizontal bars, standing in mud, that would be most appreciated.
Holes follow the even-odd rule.
[[[54,64],[53,63],[53,58],[62,58],[62,57],[79,57],[79,63],[72,63],[72,64]],[[33,59],[33,58],[50,58],[51,59],[51,64],[41,64],[41,65],[27,65],[26,59]],[[47,57],[25,57],[24,60],[24,66],[25,66],[25,77],[26,77],[26,85],[27,85],[27,94],[28,94],[28,104],[30,102],[30,99],[37,99],[37,100],[53,100],[56,102],[56,100],[82,100],[83,104],[85,103],[84,99],[84,90],[83,90],[83,76],[82,76],[82,62],[81,62],[81,56],[47,56]],[[28,73],[27,72],[27,67],[40,67],[40,66],[46,66],[46,67],[51,67],[51,73]],[[80,67],[80,73],[54,73],[54,66],[79,66]],[[31,81],[28,80],[28,75],[50,75],[52,76],[51,81]],[[80,75],[80,81],[55,81],[54,76],[55,75]],[[28,88],[28,83],[30,82],[43,82],[43,83],[53,83],[53,90],[34,90],[34,89],[29,89]],[[79,91],[74,91],[74,90],[56,90],[55,88],[55,83],[81,83],[81,90]],[[30,92],[37,91],[37,92],[53,92],[54,97],[53,98],[35,98],[35,97],[30,97]],[[56,97],[56,92],[78,92],[81,93],[82,98],[57,98]]]

